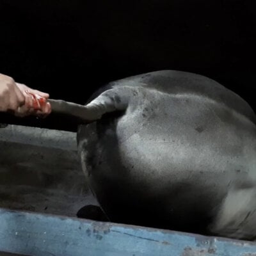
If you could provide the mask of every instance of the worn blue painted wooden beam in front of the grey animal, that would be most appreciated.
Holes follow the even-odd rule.
[[[0,251],[35,256],[256,256],[256,243],[0,209]]]

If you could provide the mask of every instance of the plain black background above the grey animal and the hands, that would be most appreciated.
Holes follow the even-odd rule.
[[[255,0],[0,0],[0,72],[83,104],[109,81],[182,70],[256,109],[255,26]]]

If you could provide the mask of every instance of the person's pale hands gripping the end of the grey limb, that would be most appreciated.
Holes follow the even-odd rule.
[[[33,90],[25,84],[16,83],[10,76],[0,74],[0,112],[10,112],[15,116],[47,116],[51,113],[49,103],[41,109],[33,108],[33,98],[29,93],[49,98],[48,93]]]

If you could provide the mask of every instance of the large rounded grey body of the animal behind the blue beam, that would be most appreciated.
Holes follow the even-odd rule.
[[[109,220],[254,239],[256,118],[236,93],[163,70],[109,83],[86,106],[81,164]]]

